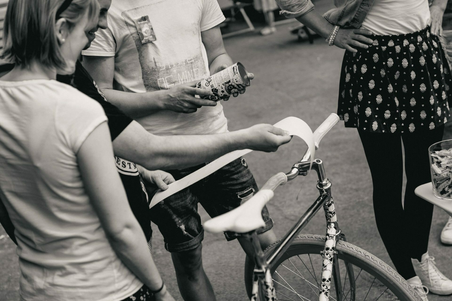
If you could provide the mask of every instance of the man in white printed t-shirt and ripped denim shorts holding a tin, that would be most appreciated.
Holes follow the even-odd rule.
[[[153,134],[226,132],[221,104],[195,97],[194,88],[199,79],[233,63],[221,38],[224,19],[216,0],[113,0],[108,29],[99,30],[83,52],[84,66],[108,101]],[[145,25],[148,38],[142,39],[138,30]],[[113,80],[123,91],[113,90]],[[203,165],[169,172],[177,180]],[[257,190],[245,159],[239,158],[152,208],[151,220],[171,252],[184,300],[215,300],[202,268],[198,202],[213,217],[236,208]],[[267,208],[263,218],[266,226],[258,233],[265,248],[276,237]],[[227,240],[238,238],[251,254],[238,234],[225,235]]]

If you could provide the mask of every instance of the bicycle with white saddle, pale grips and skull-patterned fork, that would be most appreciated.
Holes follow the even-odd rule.
[[[331,114],[315,130],[316,148],[338,121],[339,116]],[[320,196],[283,239],[262,251],[255,231],[265,225],[261,216],[262,208],[273,197],[276,187],[297,176],[308,174],[311,165],[309,158],[308,150],[290,172],[280,172],[271,177],[249,201],[204,223],[204,229],[209,232],[241,233],[253,245],[253,277],[245,280],[252,281],[250,300],[257,301],[259,297],[260,300],[278,300],[278,294],[285,298],[280,300],[292,301],[329,301],[330,297],[334,301],[421,301],[414,289],[393,268],[371,253],[347,242],[337,221],[331,182],[326,177],[320,159],[314,159],[311,167],[318,176],[317,189]],[[297,236],[321,207],[325,211],[326,236]],[[317,278],[314,268],[320,265],[321,279]],[[305,270],[307,272],[303,274],[301,271]],[[360,289],[360,284],[363,284],[363,290]],[[331,290],[334,290],[335,298],[330,296]],[[313,297],[308,298],[308,293]]]

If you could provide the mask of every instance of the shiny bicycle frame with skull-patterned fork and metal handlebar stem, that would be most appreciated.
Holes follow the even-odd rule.
[[[307,154],[309,157],[309,154]],[[306,158],[306,154],[303,158]],[[294,179],[298,175],[306,176],[309,171],[310,162],[302,160],[297,162],[293,167],[292,171],[287,173],[288,181]],[[330,298],[330,288],[331,288],[331,278],[334,278],[337,301],[343,301],[341,287],[341,280],[339,269],[334,268],[339,266],[337,259],[336,242],[341,239],[345,240],[344,234],[341,234],[339,225],[337,222],[336,211],[334,210],[333,197],[331,196],[331,182],[325,175],[325,169],[323,162],[319,159],[315,159],[312,164],[312,169],[317,172],[319,178],[317,183],[317,189],[320,191],[320,196],[315,200],[315,202],[309,207],[308,210],[301,216],[292,229],[290,229],[284,238],[281,240],[278,248],[270,254],[269,258],[266,259],[264,252],[262,251],[259,239],[255,231],[248,234],[244,234],[245,238],[249,239],[254,247],[254,262],[256,263],[256,268],[253,274],[253,289],[251,301],[256,301],[259,295],[259,282],[263,284],[264,287],[264,297],[265,300],[277,300],[276,291],[273,287],[273,280],[271,275],[271,270],[276,266],[278,260],[287,251],[293,239],[297,237],[300,231],[309,223],[312,217],[323,207],[325,211],[326,218],[326,241],[325,248],[322,254],[322,280],[319,283],[319,301],[329,301]],[[345,263],[346,270],[349,276],[350,287],[351,287],[351,298],[350,301],[354,301],[354,275],[353,268]]]

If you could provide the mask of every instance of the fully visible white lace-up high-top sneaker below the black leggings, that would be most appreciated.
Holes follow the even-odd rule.
[[[435,258],[428,256],[428,252],[422,255],[421,262],[413,258],[411,258],[411,262],[414,272],[429,291],[438,295],[452,294],[452,281],[438,270]]]

